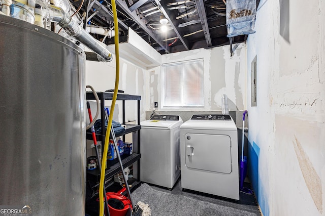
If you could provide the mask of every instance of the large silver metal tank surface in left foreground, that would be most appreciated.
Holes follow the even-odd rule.
[[[85,55],[0,15],[0,205],[85,215]]]

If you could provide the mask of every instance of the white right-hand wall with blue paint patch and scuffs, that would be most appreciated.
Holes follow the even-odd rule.
[[[321,0],[261,0],[248,36],[248,77],[257,56],[249,168],[264,215],[325,215],[324,10]]]

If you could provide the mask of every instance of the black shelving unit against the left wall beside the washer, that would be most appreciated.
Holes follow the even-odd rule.
[[[105,125],[105,100],[112,100],[113,99],[113,93],[110,92],[96,92],[99,99],[100,99],[100,113],[101,113],[101,124]],[[86,99],[87,100],[95,100],[95,97],[92,92],[86,92]],[[133,132],[138,132],[141,129],[140,125],[140,100],[141,96],[137,95],[128,95],[128,94],[118,94],[117,95],[117,101],[122,101],[122,125],[125,125],[125,132],[120,135],[116,135],[116,137],[123,136],[123,140],[125,140],[125,135]],[[125,101],[138,101],[138,118],[137,118],[137,124],[129,124],[125,123]],[[105,129],[102,129],[102,132],[100,134],[96,134],[96,139],[98,141],[102,141],[102,149],[104,149],[104,143],[105,143]],[[123,167],[132,165],[134,162],[138,161],[138,173],[137,178],[130,180],[130,182],[133,182],[133,184],[137,185],[140,182],[140,133],[137,133],[138,140],[137,143],[133,142],[133,149],[135,145],[137,145],[137,152],[133,151],[133,154],[131,155],[122,155],[122,164]],[[87,132],[86,133],[86,139],[92,140],[92,134]],[[121,171],[120,165],[118,163],[118,159],[114,160],[107,160],[107,169],[105,171],[105,181],[114,177],[115,174],[117,174],[119,171]],[[99,186],[100,181],[100,170],[94,169],[94,170],[86,170],[86,178],[87,182],[91,182],[91,188],[94,189]]]

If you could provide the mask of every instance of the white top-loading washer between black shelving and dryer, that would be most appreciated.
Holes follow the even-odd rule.
[[[180,177],[179,128],[177,115],[154,115],[141,124],[140,180],[173,188]]]

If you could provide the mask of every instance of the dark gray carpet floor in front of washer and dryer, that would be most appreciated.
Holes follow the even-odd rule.
[[[173,190],[167,190],[143,183],[132,192],[133,203],[141,201],[149,204],[152,216],[260,215],[257,205],[247,206],[247,203],[241,204],[182,192],[179,185],[178,182]]]

